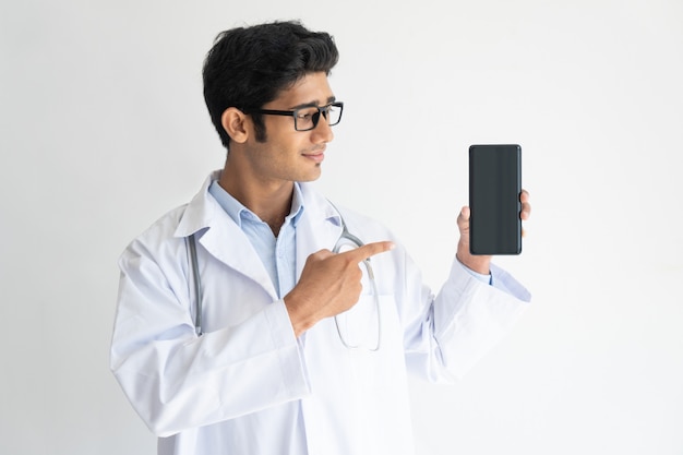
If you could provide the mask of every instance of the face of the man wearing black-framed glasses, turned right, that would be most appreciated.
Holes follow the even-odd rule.
[[[325,106],[335,100],[325,73],[311,73],[263,106],[263,109],[293,110],[303,106]],[[293,117],[263,116],[266,139],[254,134],[247,141],[244,159],[260,180],[311,181],[321,175],[326,144],[334,139],[321,117],[310,131],[296,131]]]

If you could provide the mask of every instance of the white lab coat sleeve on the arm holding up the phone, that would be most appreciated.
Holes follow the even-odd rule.
[[[510,333],[528,308],[530,295],[494,264],[491,275],[491,284],[482,283],[454,260],[435,297],[423,285],[411,290],[414,299],[422,300],[420,318],[406,338],[406,359],[412,373],[430,382],[452,383]],[[421,283],[416,277],[406,279]]]

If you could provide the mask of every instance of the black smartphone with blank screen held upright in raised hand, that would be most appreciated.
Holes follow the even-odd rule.
[[[469,251],[522,253],[522,147],[517,144],[469,147]]]

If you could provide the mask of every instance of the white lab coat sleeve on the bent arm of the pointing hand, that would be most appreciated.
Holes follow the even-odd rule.
[[[180,290],[188,286],[178,278],[181,267],[166,266],[182,261],[155,255],[133,242],[121,256],[110,357],[116,379],[155,434],[168,436],[309,394],[281,300],[197,337],[189,298]]]

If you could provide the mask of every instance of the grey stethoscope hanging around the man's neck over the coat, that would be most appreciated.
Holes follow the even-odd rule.
[[[342,223],[342,235],[339,236],[336,243],[334,244],[332,252],[339,253],[342,249],[346,246],[350,246],[352,248],[362,247],[364,243],[358,237],[349,232],[348,227],[346,226],[346,221],[344,220],[344,217],[342,216],[342,212],[339,212],[339,209],[337,209],[336,207],[335,209],[339,214],[339,220]],[[202,298],[203,298],[202,279],[200,276],[200,267],[199,267],[199,263],[196,259],[196,240],[194,239],[194,234],[190,235],[187,238],[187,244],[188,244],[190,262],[192,266],[192,280],[194,284],[194,296],[195,296],[194,332],[196,333],[197,336],[202,336],[203,334],[203,331],[202,331]],[[368,282],[370,283],[370,288],[372,290],[372,300],[373,300],[372,303],[374,306],[374,309],[378,315],[376,343],[373,343],[370,346],[366,346],[360,343],[359,344],[349,343],[343,334],[343,330],[339,324],[339,314],[334,316],[334,321],[335,321],[335,326],[337,328],[337,334],[339,335],[339,340],[346,348],[348,349],[366,348],[370,351],[376,351],[380,349],[380,344],[382,339],[382,318],[381,318],[381,308],[380,308],[380,295],[378,292],[378,285],[374,279],[374,271],[372,270],[372,265],[370,264],[370,258],[363,260],[362,264],[366,268],[366,272],[368,273]]]

